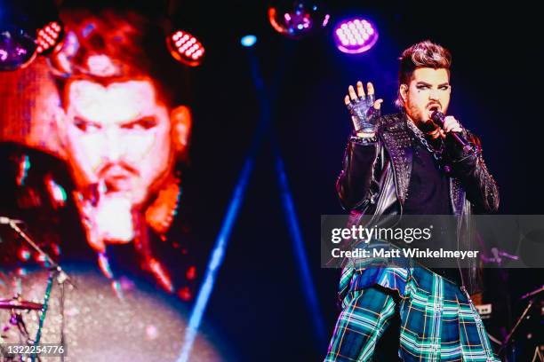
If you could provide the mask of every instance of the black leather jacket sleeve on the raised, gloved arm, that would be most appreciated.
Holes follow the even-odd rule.
[[[374,142],[348,142],[340,176],[336,181],[336,191],[344,209],[364,207],[376,192],[376,180],[379,178],[380,140]]]

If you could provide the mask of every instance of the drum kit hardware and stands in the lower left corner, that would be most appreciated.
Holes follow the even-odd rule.
[[[42,327],[44,326],[44,319],[47,314],[47,307],[49,302],[49,297],[52,291],[53,282],[56,281],[60,286],[60,304],[63,303],[64,296],[64,285],[66,282],[74,285],[71,279],[68,277],[68,274],[62,270],[59,264],[55,263],[51,256],[44,252],[34,240],[32,240],[26,232],[24,232],[19,224],[22,222],[20,220],[14,220],[9,217],[0,216],[0,224],[9,225],[14,232],[16,232],[20,239],[24,240],[30,248],[32,248],[36,253],[41,256],[40,259],[44,261],[44,266],[49,270],[49,276],[47,279],[47,286],[45,287],[45,293],[43,298],[43,303],[36,303],[33,301],[24,300],[22,298],[22,291],[20,287],[20,280],[18,276],[13,276],[13,281],[15,281],[16,292],[12,298],[0,298],[0,311],[9,311],[9,320],[1,321],[2,329],[0,330],[0,362],[14,362],[14,361],[41,361],[42,359],[36,353],[32,354],[13,354],[6,349],[7,345],[17,345],[25,347],[39,346]],[[2,271],[0,270],[0,274]],[[62,311],[63,308],[61,307]],[[37,332],[35,335],[31,335],[28,331],[27,324],[25,323],[24,314],[34,311],[37,313]],[[61,314],[61,319],[64,319],[64,316]],[[14,333],[11,333],[13,332]],[[10,334],[10,337],[8,337]],[[12,336],[16,335],[16,340],[12,339]],[[60,329],[60,345],[64,345],[64,331]],[[36,350],[36,348],[34,348]],[[64,356],[60,355],[60,360],[64,360]]]

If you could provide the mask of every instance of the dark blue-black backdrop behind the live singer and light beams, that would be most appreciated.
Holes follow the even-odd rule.
[[[193,238],[202,241],[203,258],[220,231],[263,110],[252,66],[258,65],[266,88],[270,127],[256,148],[205,314],[206,325],[216,329],[236,360],[324,357],[326,345],[316,340],[312,322],[319,317],[310,313],[301,285],[273,146],[284,160],[329,338],[339,312],[340,272],[320,267],[319,227],[320,215],[344,213],[334,188],[351,129],[343,97],[349,84],[372,81],[385,99],[383,112],[396,112],[397,58],[412,43],[431,39],[452,51],[449,113],[482,139],[488,168],[500,185],[500,213],[543,213],[538,12],[520,2],[481,8],[474,3],[334,1],[327,4],[329,26],[299,41],[271,28],[265,2],[130,3],[155,14],[170,6],[180,28],[206,49],[202,66],[188,69],[188,80],[180,80],[188,84],[183,98],[194,112],[182,214]],[[373,20],[380,39],[371,51],[348,55],[334,46],[332,28],[355,16]],[[252,49],[240,45],[246,34],[258,36]],[[516,301],[541,284],[538,273],[512,271],[502,294]],[[502,323],[516,317],[519,305]]]

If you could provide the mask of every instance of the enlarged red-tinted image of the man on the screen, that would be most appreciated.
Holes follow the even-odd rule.
[[[52,233],[75,234],[56,238],[61,240],[63,259],[76,254],[85,260],[96,257],[101,271],[114,281],[118,277],[114,264],[123,262],[136,271],[141,267],[168,292],[189,300],[196,268],[180,263],[187,259],[187,243],[183,240],[180,247],[179,238],[165,242],[171,232],[179,234],[172,230],[176,229],[172,224],[177,222],[180,229],[180,217],[175,217],[181,194],[180,169],[191,130],[188,106],[177,104],[180,96],[175,83],[183,83],[176,77],[181,75],[177,71],[180,67],[165,49],[160,28],[137,12],[68,8],[60,16],[67,31],[61,49],[49,57],[49,67],[36,62],[31,70],[44,73],[42,68],[48,69],[44,85],[36,88],[46,93],[46,106],[52,112],[42,109],[42,113],[52,114],[53,120],[43,121],[52,127],[39,141],[49,144],[49,138],[58,140],[55,151],[68,165],[70,180],[63,183],[62,177],[47,169],[45,165],[59,162],[46,159],[44,153],[7,145],[0,150],[0,158],[17,164],[12,167],[12,162],[5,163],[6,169],[11,168],[6,178],[12,179],[14,185],[5,181],[10,185],[4,190],[18,190],[13,194],[19,199],[32,200],[40,195],[44,201],[56,200],[48,193],[66,193],[64,199],[68,200],[53,203],[50,208],[50,220],[55,222],[74,201],[84,238],[74,220],[62,218],[61,224],[69,227],[57,227]],[[31,79],[32,74],[26,75],[26,70],[5,76],[18,75],[15,84],[20,87],[25,79]],[[0,81],[4,82],[4,78]],[[49,83],[54,85],[46,87]],[[45,97],[26,94],[18,102],[12,93],[7,101],[3,100],[3,106],[5,103],[25,109],[19,103],[31,107],[35,103],[32,97]],[[39,112],[34,113],[39,119]],[[2,114],[2,120],[9,116]],[[38,165],[44,166],[39,169]],[[24,177],[10,178],[13,171]],[[59,187],[64,189],[59,192]],[[41,195],[43,191],[45,196]],[[44,201],[33,204],[45,209]],[[19,214],[20,209],[25,209],[21,201],[12,203],[18,206]],[[9,215],[13,210],[9,202],[5,205]],[[73,212],[68,214],[73,216]],[[31,217],[22,218],[38,233],[40,229]],[[53,238],[43,239],[49,244]],[[82,239],[91,248],[85,248]]]

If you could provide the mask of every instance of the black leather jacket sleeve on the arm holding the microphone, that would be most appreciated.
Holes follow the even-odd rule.
[[[468,201],[476,212],[493,213],[499,209],[499,188],[485,166],[479,138],[468,131],[463,132],[472,150],[463,153],[458,144],[446,138],[445,145],[452,159],[452,170],[467,193]]]

